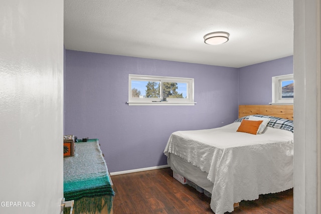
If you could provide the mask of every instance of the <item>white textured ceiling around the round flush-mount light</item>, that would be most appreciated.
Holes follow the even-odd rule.
[[[293,55],[293,0],[65,0],[68,50],[240,68]],[[226,31],[222,45],[204,35]]]

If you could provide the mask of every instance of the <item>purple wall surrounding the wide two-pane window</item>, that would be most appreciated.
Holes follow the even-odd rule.
[[[189,77],[195,106],[128,106],[128,74]],[[172,132],[238,115],[238,69],[66,50],[65,134],[98,138],[110,172],[167,164]]]

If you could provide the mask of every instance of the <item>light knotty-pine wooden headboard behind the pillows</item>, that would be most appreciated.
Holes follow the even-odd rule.
[[[239,105],[239,118],[252,114],[293,120],[293,105]]]

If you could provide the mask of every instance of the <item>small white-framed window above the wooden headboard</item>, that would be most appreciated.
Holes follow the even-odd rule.
[[[272,77],[272,103],[293,104],[293,74]]]

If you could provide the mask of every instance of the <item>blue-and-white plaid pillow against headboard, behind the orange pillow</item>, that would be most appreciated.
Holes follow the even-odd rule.
[[[248,120],[250,116],[270,118],[270,121],[267,124],[267,126],[270,126],[272,128],[284,129],[293,133],[293,129],[294,129],[293,120],[287,120],[279,117],[255,114],[255,115],[248,115],[245,117],[241,117],[235,120],[234,122],[242,122],[243,119]]]

